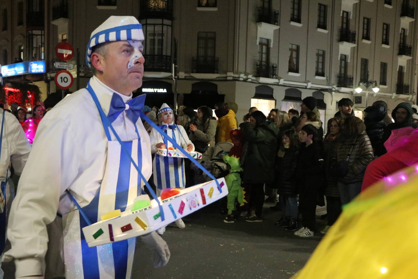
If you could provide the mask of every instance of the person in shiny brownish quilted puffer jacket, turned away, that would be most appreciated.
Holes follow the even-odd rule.
[[[337,148],[331,151],[332,174],[337,177],[342,205],[360,193],[364,171],[374,158],[372,144],[365,130],[363,120],[356,116],[347,117]]]

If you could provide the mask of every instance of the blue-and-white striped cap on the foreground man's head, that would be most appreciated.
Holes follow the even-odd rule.
[[[98,44],[112,41],[143,41],[142,25],[134,16],[110,16],[90,36],[86,50],[86,64],[92,68],[92,48]]]

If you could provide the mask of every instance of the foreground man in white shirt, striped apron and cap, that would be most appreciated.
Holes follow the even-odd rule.
[[[94,77],[39,125],[10,214],[12,249],[5,257],[15,259],[16,277],[43,278],[46,225],[57,212],[63,217],[66,278],[131,277],[136,238],[90,248],[81,228],[106,212],[124,211],[144,185],[99,112],[145,179],[152,172],[150,140],[139,118],[145,98],[132,99],[132,91],[142,85],[143,40],[142,26],[133,16],[104,21],[87,45],[86,62]],[[154,266],[165,266],[170,257],[166,242],[155,232],[141,238],[153,251]]]

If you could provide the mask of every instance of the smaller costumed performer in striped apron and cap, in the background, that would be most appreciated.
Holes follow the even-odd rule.
[[[189,137],[183,126],[174,124],[173,110],[164,103],[158,111],[158,123],[160,128],[167,133],[179,146],[187,151],[193,151],[194,145],[191,143]],[[157,130],[152,129],[150,133],[151,152],[155,153],[157,148],[168,149],[173,148],[170,142],[167,142]],[[154,184],[156,185],[156,194],[159,197],[162,189],[166,188],[180,188],[184,189],[186,184],[186,177],[184,175],[184,159],[160,156],[155,154],[153,160],[153,175]],[[178,228],[184,229],[183,220],[175,221]],[[166,228],[163,227],[157,230],[158,234],[163,234]]]

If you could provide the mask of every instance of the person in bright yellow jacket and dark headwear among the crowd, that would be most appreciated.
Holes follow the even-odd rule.
[[[229,137],[229,131],[231,131],[232,128],[237,128],[235,113],[233,110],[230,110],[225,103],[219,103],[216,106],[217,109],[215,110],[215,115],[218,118],[216,143],[225,141],[232,143],[232,140]]]

